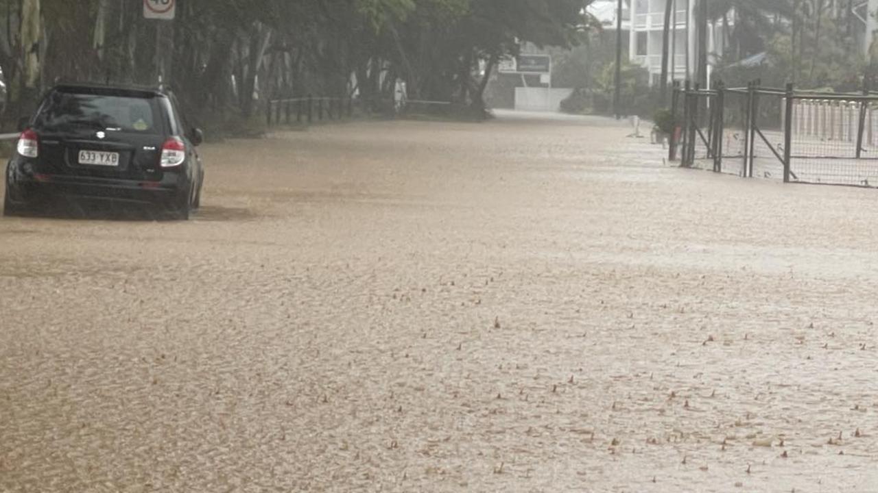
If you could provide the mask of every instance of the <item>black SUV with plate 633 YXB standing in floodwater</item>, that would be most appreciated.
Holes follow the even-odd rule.
[[[198,208],[203,136],[166,91],[60,85],[21,126],[4,215],[59,198],[157,205],[180,219]]]

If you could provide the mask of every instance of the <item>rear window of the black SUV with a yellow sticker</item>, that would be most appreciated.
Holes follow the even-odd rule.
[[[110,130],[160,133],[155,97],[79,94],[55,91],[40,108],[34,125],[45,130]]]

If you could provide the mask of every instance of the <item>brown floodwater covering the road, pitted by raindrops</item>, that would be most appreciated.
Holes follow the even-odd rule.
[[[878,192],[601,118],[203,147],[0,220],[0,491],[874,491]]]

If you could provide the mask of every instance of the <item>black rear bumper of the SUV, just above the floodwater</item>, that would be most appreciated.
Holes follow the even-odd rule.
[[[113,202],[167,204],[188,193],[184,174],[164,173],[158,181],[126,180],[76,175],[29,173],[12,161],[7,169],[7,192],[12,202],[38,204],[56,199],[82,198]]]

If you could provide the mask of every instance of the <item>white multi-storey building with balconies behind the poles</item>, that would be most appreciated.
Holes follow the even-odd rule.
[[[671,32],[668,36],[668,79],[694,79],[697,65],[698,33],[695,28],[694,8],[690,0],[630,0],[631,30],[630,60],[650,71],[650,83],[658,84],[661,78],[662,32],[665,25],[666,2],[673,2]],[[695,6],[692,2],[692,7]],[[729,16],[734,18],[734,16]],[[722,24],[708,25],[708,71],[723,54]],[[708,77],[709,78],[709,77]]]

